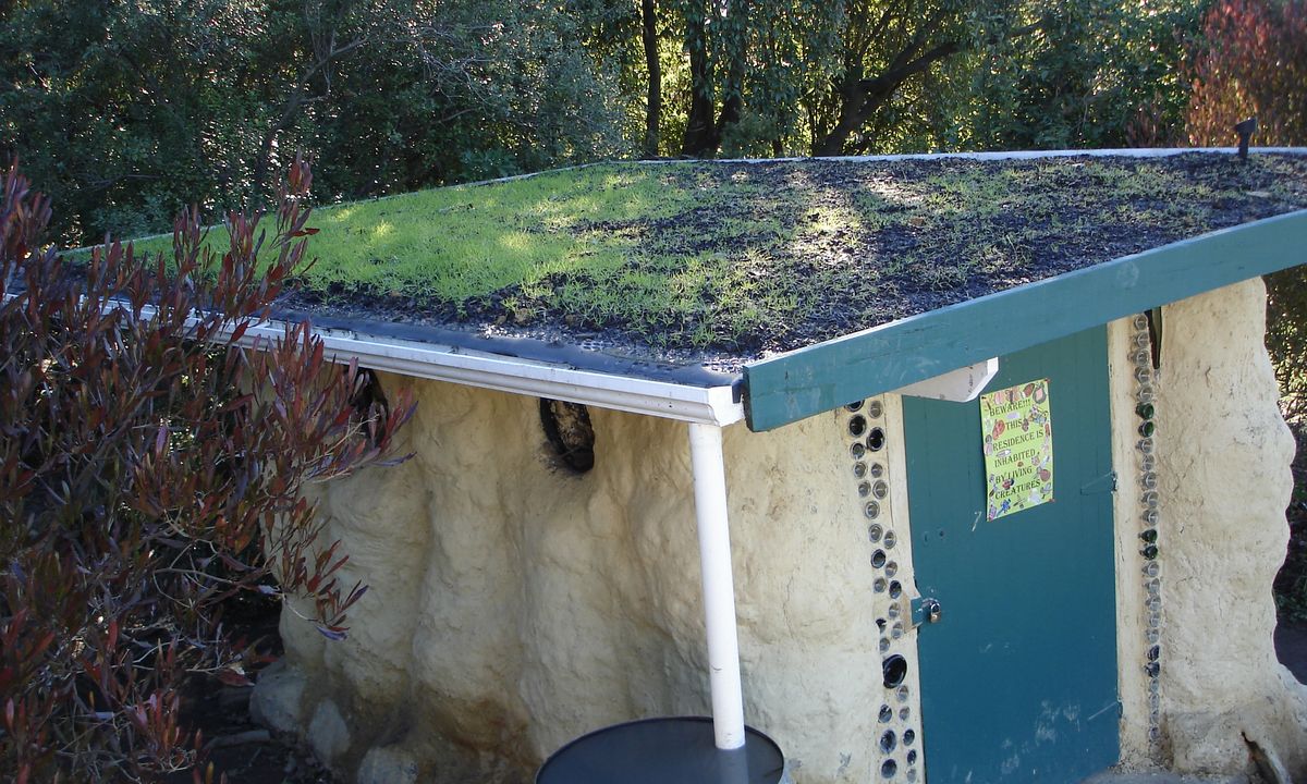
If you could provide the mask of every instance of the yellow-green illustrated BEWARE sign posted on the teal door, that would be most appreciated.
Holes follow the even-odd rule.
[[[1053,499],[1048,379],[980,396],[988,520]]]

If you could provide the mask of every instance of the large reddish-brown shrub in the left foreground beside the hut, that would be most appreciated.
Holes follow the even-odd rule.
[[[354,405],[366,371],[329,363],[307,324],[243,348],[302,268],[308,167],[280,191],[276,234],[230,214],[201,250],[118,243],[71,265],[41,238],[48,203],[12,167],[0,195],[0,777],[153,780],[195,766],[183,678],[243,679],[222,627],[243,592],[306,596],[344,635],[363,587],[301,497],[376,463],[412,414]],[[369,435],[365,435],[365,430]],[[199,776],[196,776],[199,777]]]

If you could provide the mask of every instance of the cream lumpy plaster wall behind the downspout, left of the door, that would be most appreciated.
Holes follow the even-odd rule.
[[[264,720],[365,783],[511,781],[599,727],[706,715],[686,426],[591,409],[596,465],[572,476],[535,399],[383,384],[417,392],[400,447],[416,457],[319,494],[371,589],[341,643],[284,614]],[[804,783],[880,764],[878,610],[843,422],[725,433],[746,720]]]

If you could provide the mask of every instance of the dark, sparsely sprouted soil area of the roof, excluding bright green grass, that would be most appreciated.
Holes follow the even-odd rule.
[[[716,285],[748,290],[740,302],[752,320],[744,327],[716,327],[732,323],[729,308],[707,302],[720,294],[712,274],[723,272],[708,276],[702,308],[657,323],[575,307],[567,291],[609,285],[584,269],[468,302],[302,290],[285,304],[315,319],[536,338],[732,371],[761,355],[1307,206],[1307,155],[1290,154],[1248,162],[1193,153],[660,166],[668,187],[698,188],[702,204],[656,220],[583,220],[570,230],[638,238],[642,255],[630,264],[651,272],[667,273],[678,259],[723,260],[732,278]],[[724,201],[718,192],[733,195]]]

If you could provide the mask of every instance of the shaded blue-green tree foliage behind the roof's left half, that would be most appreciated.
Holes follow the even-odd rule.
[[[285,150],[359,197],[621,152],[563,8],[482,0],[0,4],[0,153],[72,242],[267,197]]]

